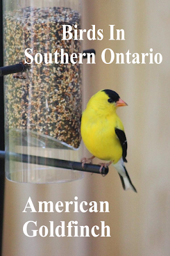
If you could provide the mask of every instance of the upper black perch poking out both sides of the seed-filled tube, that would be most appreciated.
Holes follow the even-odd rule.
[[[87,53],[94,53],[96,54],[94,49],[88,49],[83,51],[83,53],[86,53],[86,56],[83,56],[84,59],[87,58]],[[15,65],[6,66],[6,67],[0,67],[0,76],[6,76],[9,74],[19,73],[26,71],[28,65],[24,65],[24,63],[20,62]]]

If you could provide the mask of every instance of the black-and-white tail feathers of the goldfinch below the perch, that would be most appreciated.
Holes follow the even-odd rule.
[[[114,167],[116,168],[116,170],[118,171],[118,173],[120,175],[121,184],[123,186],[123,189],[125,189],[125,190],[132,189],[134,192],[137,193],[134,185],[132,184],[132,181],[130,180],[128,172],[125,168],[125,165],[123,163],[123,159],[121,158],[120,161],[118,161],[118,163],[113,164],[113,165],[114,165]]]

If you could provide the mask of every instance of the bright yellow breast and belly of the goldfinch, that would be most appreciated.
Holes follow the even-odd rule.
[[[115,125],[114,118],[82,115],[82,140],[93,156],[114,163],[121,158],[122,148],[114,130]]]

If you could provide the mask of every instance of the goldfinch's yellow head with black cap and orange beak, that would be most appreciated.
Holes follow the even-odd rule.
[[[101,90],[93,95],[88,102],[88,107],[105,113],[115,112],[116,108],[121,106],[127,106],[127,103],[112,90]]]

